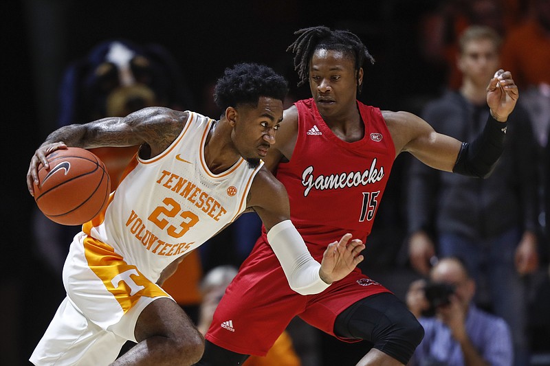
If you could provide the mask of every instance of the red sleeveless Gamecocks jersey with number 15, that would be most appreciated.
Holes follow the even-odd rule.
[[[365,134],[350,143],[334,135],[313,99],[295,104],[296,147],[276,172],[289,192],[292,222],[322,251],[347,232],[366,242],[395,159],[380,109],[358,102]]]

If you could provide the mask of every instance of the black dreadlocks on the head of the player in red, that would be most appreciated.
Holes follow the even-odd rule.
[[[365,59],[374,63],[374,58],[369,54],[361,39],[347,30],[330,30],[329,27],[318,26],[297,30],[296,41],[289,45],[287,52],[293,52],[294,70],[298,71],[298,87],[309,78],[309,61],[316,49],[328,49],[341,51],[355,60],[355,74],[359,77],[359,69]],[[362,85],[358,82],[358,93],[361,93]]]

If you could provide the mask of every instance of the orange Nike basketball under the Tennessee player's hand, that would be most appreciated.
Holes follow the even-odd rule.
[[[111,179],[104,163],[83,148],[47,155],[50,169],[39,165],[34,201],[47,218],[61,225],[82,225],[107,205]]]

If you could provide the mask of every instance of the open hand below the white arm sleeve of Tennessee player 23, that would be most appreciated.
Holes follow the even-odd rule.
[[[353,271],[363,261],[360,253],[365,245],[359,239],[351,240],[351,234],[342,236],[340,242],[331,242],[322,255],[319,275],[327,284],[338,281]]]

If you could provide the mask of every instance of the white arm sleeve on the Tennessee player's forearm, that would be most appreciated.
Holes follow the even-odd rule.
[[[292,290],[300,295],[313,295],[330,286],[319,276],[321,264],[311,257],[292,221],[281,221],[272,227],[267,240],[281,262]]]

